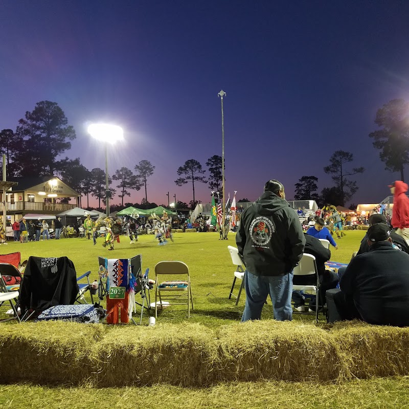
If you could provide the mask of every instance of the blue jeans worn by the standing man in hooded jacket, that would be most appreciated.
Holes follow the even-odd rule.
[[[255,276],[246,270],[243,278],[246,305],[241,322],[260,320],[261,310],[268,294],[271,297],[274,318],[277,321],[291,321],[292,276],[292,271],[284,276],[269,277]]]

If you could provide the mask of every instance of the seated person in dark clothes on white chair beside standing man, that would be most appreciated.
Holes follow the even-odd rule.
[[[338,284],[338,276],[335,272],[325,269],[325,262],[331,258],[331,252],[328,248],[325,248],[320,240],[313,236],[304,234],[305,247],[304,253],[310,254],[315,257],[316,268],[318,271],[318,277],[320,280],[320,292],[319,292],[319,305],[325,304],[325,293],[331,288],[335,288]],[[314,285],[315,279],[311,276],[294,276],[292,279],[294,285]],[[294,306],[298,311],[305,311],[307,306],[304,305],[304,297],[298,291],[292,292],[292,300]],[[315,310],[315,302],[310,300],[309,305],[310,312]]]

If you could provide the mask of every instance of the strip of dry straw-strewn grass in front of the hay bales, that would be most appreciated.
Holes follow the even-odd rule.
[[[0,407],[13,409],[407,409],[408,402],[407,377],[343,384],[240,382],[205,389],[170,385],[103,389],[0,386]]]

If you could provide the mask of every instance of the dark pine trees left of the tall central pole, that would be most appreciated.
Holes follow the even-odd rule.
[[[98,207],[101,202],[106,205],[105,171],[101,168],[88,170],[81,163],[79,157],[70,159],[61,158],[64,153],[71,149],[71,141],[76,138],[74,127],[68,124],[63,110],[55,102],[40,101],[33,111],[27,111],[25,118],[18,121],[15,131],[3,129],[0,132],[0,152],[6,155],[6,176],[28,177],[37,176],[60,176],[67,185],[86,198],[86,207],[89,207],[89,196],[98,199]],[[58,159],[59,158],[59,159]],[[206,165],[209,168],[208,180],[202,176],[205,170],[196,160],[186,161],[184,166],[177,169],[179,177],[175,184],[182,186],[192,183],[193,200],[189,203],[194,207],[195,183],[208,183],[212,190],[219,190],[221,185],[221,157],[214,155],[208,159]],[[155,166],[147,160],[140,161],[134,166],[134,170],[122,167],[115,174],[108,176],[109,185],[113,180],[118,184],[109,187],[110,196],[118,195],[122,206],[124,198],[130,196],[132,190],[145,190],[145,197],[141,205],[147,205],[148,178],[154,172]],[[153,203],[155,204],[155,203]],[[181,208],[186,203],[178,202]],[[81,197],[79,206],[82,206]]]

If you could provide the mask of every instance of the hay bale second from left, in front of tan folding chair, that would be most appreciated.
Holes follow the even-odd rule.
[[[117,327],[98,345],[99,387],[170,383],[184,387],[213,382],[218,361],[214,331],[200,324]]]

